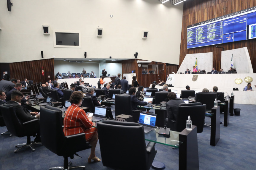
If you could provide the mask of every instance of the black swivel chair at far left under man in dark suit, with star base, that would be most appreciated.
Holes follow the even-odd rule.
[[[16,149],[14,152],[16,153],[18,150],[24,147],[30,147],[32,151],[35,151],[33,145],[41,144],[31,142],[30,137],[35,135],[40,131],[39,119],[33,119],[28,122],[21,123],[15,113],[15,107],[13,105],[3,104],[0,105],[0,109],[2,111],[2,116],[4,118],[5,125],[7,130],[17,137],[27,137],[27,143],[22,143],[15,145],[15,147],[22,146]],[[48,132],[49,133],[49,132]]]

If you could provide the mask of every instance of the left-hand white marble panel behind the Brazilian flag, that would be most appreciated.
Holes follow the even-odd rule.
[[[185,73],[187,69],[193,70],[193,66],[195,66],[195,58],[197,58],[197,68],[205,69],[206,72],[211,72],[213,67],[213,53],[198,53],[198,54],[187,54],[185,59],[182,61],[182,64],[179,67],[179,72],[182,74]]]

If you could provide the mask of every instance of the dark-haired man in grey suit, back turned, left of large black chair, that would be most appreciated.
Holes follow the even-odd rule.
[[[166,102],[166,112],[167,112],[166,122],[169,122],[171,120],[176,121],[177,115],[179,112],[178,106],[179,106],[179,104],[185,103],[185,102],[182,99],[177,98],[177,95],[174,92],[168,93],[168,99],[169,99],[169,101]]]

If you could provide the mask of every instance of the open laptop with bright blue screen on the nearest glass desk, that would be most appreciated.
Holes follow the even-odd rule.
[[[140,112],[139,124],[144,127],[144,133],[148,133],[155,128],[156,114]]]

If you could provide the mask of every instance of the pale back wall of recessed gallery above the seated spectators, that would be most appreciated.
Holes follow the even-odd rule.
[[[58,72],[67,73],[82,73],[83,68],[86,72],[91,72],[92,70],[97,77],[99,75],[99,64],[98,63],[70,63],[69,61],[54,60],[54,75]]]

